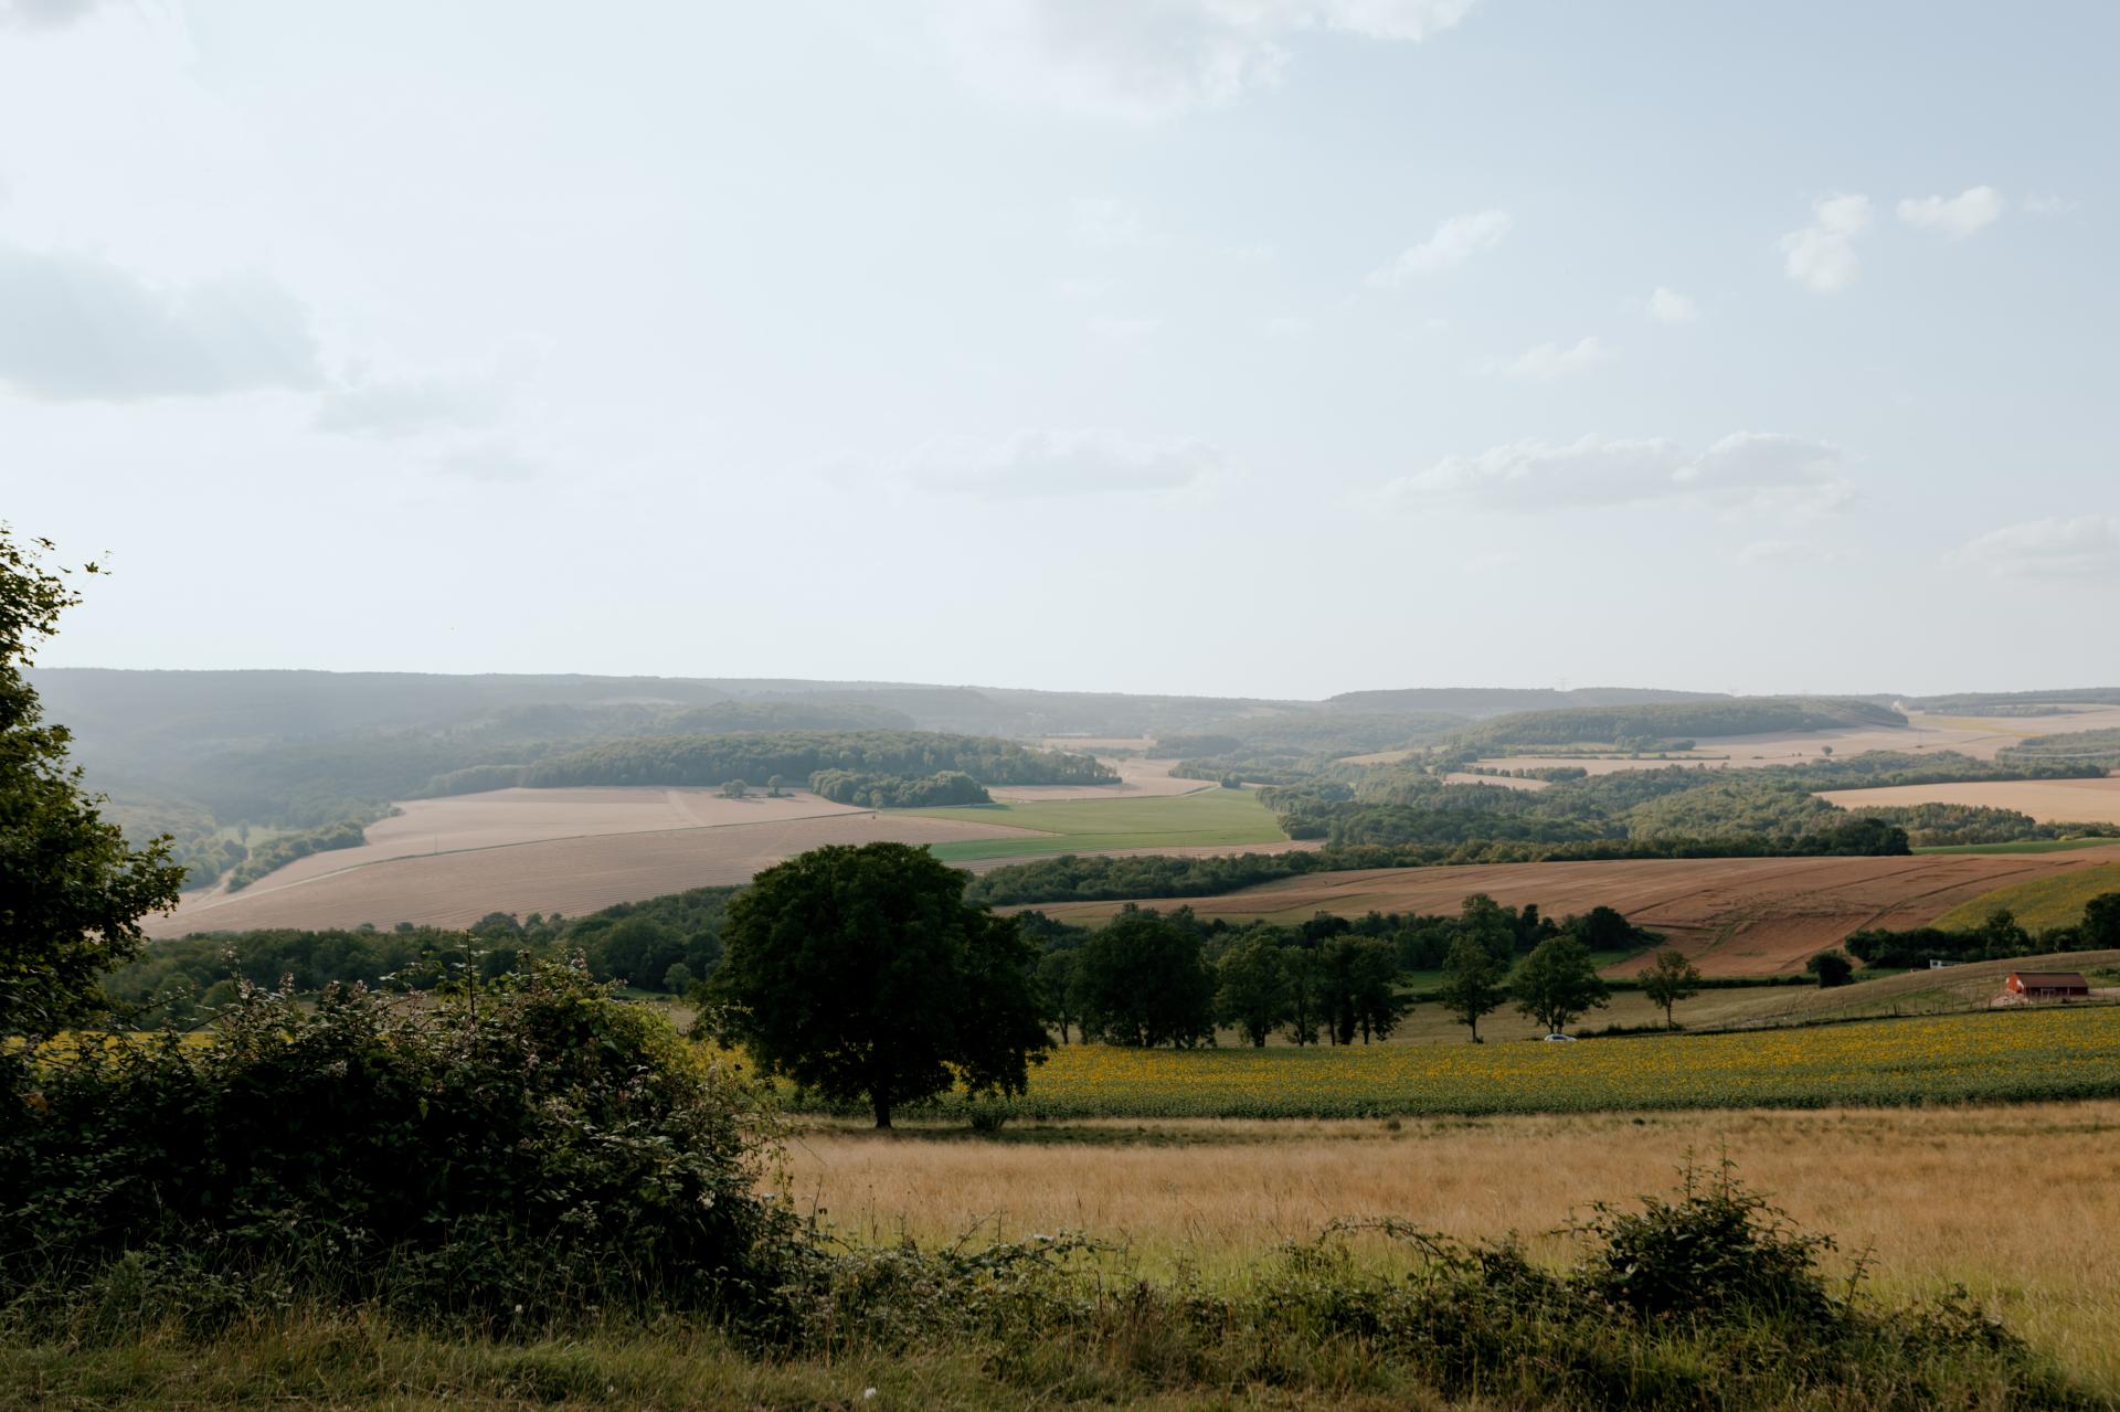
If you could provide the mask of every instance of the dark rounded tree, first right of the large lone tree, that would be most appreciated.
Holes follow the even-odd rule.
[[[1079,967],[1083,1037],[1136,1047],[1213,1043],[1215,977],[1191,912],[1121,907],[1081,943]]]

